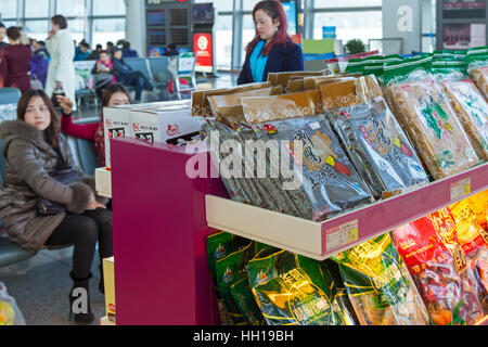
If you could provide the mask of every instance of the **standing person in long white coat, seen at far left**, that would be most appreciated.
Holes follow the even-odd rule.
[[[51,54],[48,68],[46,93],[51,98],[54,89],[62,88],[66,97],[75,99],[76,74],[73,59],[75,57],[75,46],[72,34],[67,30],[67,21],[62,15],[51,18],[51,31],[46,40],[46,48]],[[76,111],[76,104],[74,105]]]

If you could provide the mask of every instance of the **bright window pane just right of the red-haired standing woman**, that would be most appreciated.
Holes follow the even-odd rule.
[[[322,39],[323,26],[335,26],[343,44],[361,39],[368,46],[369,39],[383,38],[382,16],[381,11],[316,13],[313,39]]]

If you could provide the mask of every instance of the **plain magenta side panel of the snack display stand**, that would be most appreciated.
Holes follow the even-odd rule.
[[[182,147],[111,141],[117,325],[220,324],[207,262],[205,195]],[[204,155],[208,155],[205,153]]]

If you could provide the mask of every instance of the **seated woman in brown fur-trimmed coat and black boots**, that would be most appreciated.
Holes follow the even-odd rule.
[[[26,249],[74,244],[74,281],[69,293],[69,318],[89,323],[89,280],[97,242],[100,261],[113,256],[112,213],[97,196],[94,179],[76,166],[66,138],[59,132],[57,115],[42,90],[25,92],[17,105],[17,119],[0,125],[7,158],[4,183],[0,185],[0,218],[9,239]],[[55,179],[69,171],[70,179]],[[64,182],[64,183],[63,183]],[[40,202],[59,204],[42,211]],[[43,205],[46,206],[46,205]],[[103,293],[103,272],[99,290]],[[78,309],[80,294],[88,299]]]

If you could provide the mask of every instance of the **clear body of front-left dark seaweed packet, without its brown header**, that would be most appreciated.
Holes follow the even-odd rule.
[[[323,116],[256,125],[259,139],[277,141],[299,185],[287,190],[304,218],[324,220],[371,203],[365,183],[344,153]],[[293,147],[295,141],[299,149]],[[283,166],[286,166],[282,162]]]

